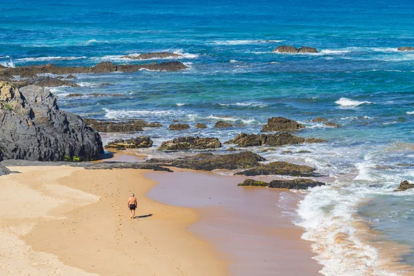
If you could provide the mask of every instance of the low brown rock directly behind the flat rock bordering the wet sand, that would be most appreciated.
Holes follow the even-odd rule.
[[[293,176],[316,176],[315,168],[304,165],[297,165],[285,161],[275,161],[269,164],[250,168],[242,172],[237,172],[236,175],[293,175]]]

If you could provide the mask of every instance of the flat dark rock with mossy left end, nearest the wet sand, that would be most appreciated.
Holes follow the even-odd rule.
[[[312,179],[299,178],[293,180],[273,180],[270,183],[264,181],[257,181],[254,179],[246,179],[243,183],[237,186],[267,186],[268,188],[284,188],[294,190],[307,190],[316,186],[324,186],[323,182],[313,181]]]

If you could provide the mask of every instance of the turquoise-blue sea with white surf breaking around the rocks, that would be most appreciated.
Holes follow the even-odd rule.
[[[304,239],[313,241],[322,273],[391,275],[382,244],[393,242],[393,255],[403,253],[398,245],[414,248],[413,192],[393,192],[400,181],[414,181],[414,167],[397,166],[414,165],[414,52],[397,51],[414,46],[414,2],[134,2],[0,1],[0,64],[148,63],[121,56],[181,53],[177,60],[188,66],[182,72],[77,75],[81,88],[52,92],[61,109],[83,117],[139,118],[164,126],[174,119],[245,125],[180,133],[221,141],[257,133],[269,117],[305,124],[298,135],[328,143],[263,155],[309,164],[328,176],[330,185],[311,190],[295,219],[306,230]],[[272,52],[281,45],[315,47],[319,53]],[[122,96],[65,97],[72,92]],[[341,128],[311,121],[315,117]],[[156,145],[178,135],[166,127],[146,134]],[[382,235],[366,241],[359,223]],[[414,255],[404,251],[400,262],[414,266]],[[406,269],[393,273],[404,275]]]

